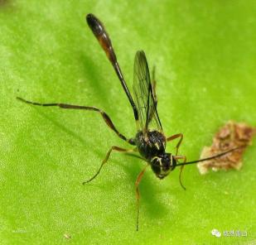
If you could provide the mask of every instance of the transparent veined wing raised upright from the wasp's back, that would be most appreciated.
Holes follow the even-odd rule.
[[[144,51],[135,55],[133,67],[133,93],[138,108],[139,126],[143,134],[147,130],[161,130],[162,125],[157,114],[157,102],[152,94],[152,84]]]

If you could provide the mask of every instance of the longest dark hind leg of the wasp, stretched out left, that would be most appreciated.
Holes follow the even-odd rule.
[[[81,109],[81,110],[89,110],[89,111],[98,112],[104,118],[104,121],[107,123],[107,125],[118,135],[118,137],[120,137],[121,139],[130,143],[133,146],[135,145],[132,138],[128,139],[127,137],[124,137],[122,133],[118,132],[116,127],[114,127],[114,123],[109,118],[109,115],[99,108],[92,107],[92,106],[73,105],[73,104],[67,104],[67,103],[37,103],[37,102],[28,101],[28,100],[26,100],[24,98],[20,98],[20,97],[17,97],[17,99],[19,99],[25,103],[30,103],[33,105],[39,105],[39,106],[45,106],[45,107],[57,106],[59,108],[64,108],[64,109]]]

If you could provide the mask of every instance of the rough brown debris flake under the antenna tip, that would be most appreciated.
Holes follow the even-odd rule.
[[[228,122],[215,134],[211,147],[204,147],[200,159],[215,156],[221,152],[229,151],[236,147],[242,147],[232,151],[225,156],[220,156],[209,161],[197,164],[200,174],[206,174],[210,169],[213,171],[236,169],[239,170],[242,163],[243,153],[252,143],[256,134],[256,127],[249,127],[243,122]]]

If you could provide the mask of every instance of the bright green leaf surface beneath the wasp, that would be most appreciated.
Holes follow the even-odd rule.
[[[0,239],[2,244],[254,244],[255,145],[241,171],[200,175],[186,166],[140,190],[145,163],[114,153],[129,147],[94,112],[17,101],[102,108],[127,137],[133,111],[85,22],[104,22],[128,87],[144,50],[157,68],[158,113],[167,136],[182,132],[180,153],[196,160],[233,119],[256,122],[256,5],[249,1],[0,1]],[[167,147],[173,152],[175,142]],[[211,235],[218,229],[222,236]],[[247,237],[225,237],[225,231]],[[70,238],[68,236],[70,235]],[[65,238],[67,237],[67,238]]]

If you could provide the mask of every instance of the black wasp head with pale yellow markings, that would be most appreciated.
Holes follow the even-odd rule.
[[[170,153],[163,153],[152,158],[151,167],[157,177],[163,179],[176,167],[176,159]]]

